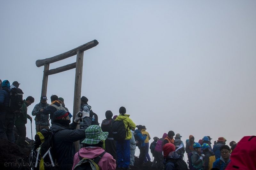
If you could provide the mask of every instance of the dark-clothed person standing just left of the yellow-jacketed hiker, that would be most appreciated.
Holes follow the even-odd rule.
[[[108,138],[105,140],[105,150],[106,152],[110,153],[110,155],[113,156],[115,160],[117,160],[116,157],[116,141],[113,138],[112,133],[112,124],[114,122],[114,119],[112,119],[113,113],[110,110],[107,110],[105,113],[106,119],[104,119],[101,123],[101,129],[102,131],[108,132]]]

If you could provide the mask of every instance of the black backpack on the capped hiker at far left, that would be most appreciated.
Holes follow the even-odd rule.
[[[23,91],[19,88],[12,88],[10,91],[9,111],[14,112],[21,109],[23,104]]]

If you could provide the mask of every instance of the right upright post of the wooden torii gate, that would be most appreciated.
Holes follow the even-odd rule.
[[[74,91],[74,105],[73,105],[73,121],[76,118],[76,113],[80,111],[81,105],[81,87],[82,87],[82,74],[83,74],[83,60],[84,51],[77,51],[76,53],[76,78],[75,78],[75,91]],[[80,128],[78,125],[77,128]],[[79,142],[75,142],[76,152],[79,150]]]

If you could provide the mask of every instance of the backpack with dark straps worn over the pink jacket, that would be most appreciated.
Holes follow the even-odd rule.
[[[98,157],[89,159],[89,158],[82,158],[78,153],[78,157],[80,161],[75,165],[74,170],[100,170],[98,162],[100,161],[101,157],[106,153],[105,151],[102,152]]]

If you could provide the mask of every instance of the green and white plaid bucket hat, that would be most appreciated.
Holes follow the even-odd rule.
[[[85,129],[85,139],[82,143],[94,145],[98,144],[101,140],[108,138],[108,132],[103,132],[99,125],[91,125]]]

